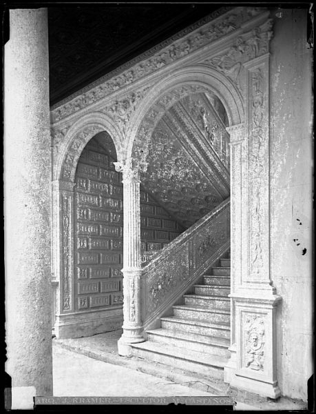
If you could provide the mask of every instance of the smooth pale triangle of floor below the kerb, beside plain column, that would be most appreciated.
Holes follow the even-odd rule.
[[[55,396],[213,395],[54,346]]]

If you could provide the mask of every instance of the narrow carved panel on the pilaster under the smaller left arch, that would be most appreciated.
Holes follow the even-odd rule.
[[[61,194],[63,311],[72,310],[72,198],[71,193],[63,191]]]

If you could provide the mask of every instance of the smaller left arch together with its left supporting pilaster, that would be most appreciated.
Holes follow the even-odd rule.
[[[52,181],[52,275],[57,284],[54,294],[56,337],[67,333],[67,313],[74,311],[74,179],[78,159],[90,139],[106,131],[112,137],[118,161],[123,139],[114,121],[101,112],[92,112],[68,130],[53,127]]]

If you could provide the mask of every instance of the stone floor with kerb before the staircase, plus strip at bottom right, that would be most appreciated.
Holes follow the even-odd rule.
[[[186,373],[164,371],[158,364],[121,357],[117,340],[122,331],[76,339],[53,340],[55,396],[176,397],[225,395]],[[238,411],[302,410],[304,404],[287,399],[279,402],[237,402]]]

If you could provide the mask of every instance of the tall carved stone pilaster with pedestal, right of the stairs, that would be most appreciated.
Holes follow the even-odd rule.
[[[231,360],[224,380],[277,398],[275,317],[281,298],[270,278],[269,91],[266,53],[244,63],[246,124],[231,134]]]

